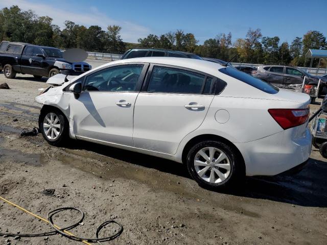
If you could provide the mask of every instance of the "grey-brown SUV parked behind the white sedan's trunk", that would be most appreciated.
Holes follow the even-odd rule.
[[[292,85],[302,84],[305,76],[307,77],[305,84],[311,86],[318,86],[319,79],[321,79],[318,95],[321,95],[323,88],[327,86],[327,79],[314,76],[293,66],[261,65],[258,67],[258,70],[252,71],[251,75],[282,88],[290,88]]]

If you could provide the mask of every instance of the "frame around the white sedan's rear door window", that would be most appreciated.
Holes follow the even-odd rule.
[[[201,87],[201,92],[200,93],[172,93],[172,92],[149,92],[148,87],[149,87],[149,83],[150,83],[150,78],[152,75],[152,71],[153,71],[153,67],[154,66],[160,66],[160,67],[166,67],[166,68],[173,68],[173,69],[179,69],[179,70],[184,70],[184,71],[190,71],[193,72],[195,74],[199,74],[201,76],[204,76],[204,83],[202,84]],[[206,79],[207,77],[212,78],[213,79],[213,83],[211,84],[211,88],[210,88],[210,93],[209,94],[205,94],[203,93],[204,90],[204,86],[206,83]],[[214,84],[216,85],[217,83],[217,78],[215,76],[212,75],[208,75],[202,71],[198,71],[198,70],[194,70],[194,69],[190,69],[190,68],[185,68],[185,67],[180,67],[180,66],[175,66],[175,65],[165,65],[165,64],[157,64],[157,63],[151,63],[147,72],[147,75],[145,77],[142,89],[141,89],[141,93],[163,93],[163,94],[193,94],[193,95],[215,95],[216,91],[213,91],[213,87]],[[217,88],[217,86],[215,86],[215,88]]]

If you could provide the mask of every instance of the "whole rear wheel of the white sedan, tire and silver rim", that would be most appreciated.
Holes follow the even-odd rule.
[[[227,187],[242,177],[236,151],[220,141],[195,144],[188,153],[187,165],[190,175],[203,187]]]

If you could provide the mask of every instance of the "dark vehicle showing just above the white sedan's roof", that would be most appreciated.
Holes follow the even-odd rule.
[[[139,57],[177,57],[202,60],[200,56],[195,54],[174,50],[164,50],[161,48],[132,48],[125,52],[122,56],[122,60]]]

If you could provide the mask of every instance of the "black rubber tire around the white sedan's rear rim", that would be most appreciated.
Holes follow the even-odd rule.
[[[224,176],[226,174],[228,174],[227,178],[224,180],[221,180],[221,178],[218,176],[218,174],[214,174],[215,177],[219,177],[219,178],[217,178],[217,181],[218,181],[218,179],[220,179],[220,181],[221,181],[219,183],[210,183],[210,182],[208,182],[208,180],[204,180],[203,178],[201,178],[199,176],[199,174],[197,173],[196,167],[194,165],[196,158],[202,162],[203,162],[203,160],[206,163],[209,162],[209,161],[206,161],[204,158],[202,158],[202,160],[201,160],[201,156],[200,156],[200,158],[198,158],[199,155],[197,155],[201,149],[206,149],[206,148],[219,149],[220,152],[223,152],[227,156],[226,160],[224,160],[225,162],[220,161],[219,163],[222,163],[222,162],[227,163],[226,162],[227,159],[229,160],[229,165],[230,165],[229,174],[228,174],[228,170],[221,169],[220,167],[217,167],[217,166],[215,166],[215,168],[216,168],[216,170],[215,170],[215,169],[213,169],[213,166],[211,166],[210,168],[208,168],[208,170],[205,170],[205,172],[204,172],[205,174],[202,176],[202,177],[206,177],[206,176],[208,176],[208,174],[211,176],[212,169],[214,170],[214,173],[217,173],[217,170],[218,171],[224,170],[224,171],[226,171],[226,173],[224,173]],[[208,155],[208,151],[209,150],[205,151],[206,155]],[[220,153],[218,152],[218,154],[220,154]],[[217,156],[218,155],[215,155],[213,157],[213,159],[217,159]],[[228,144],[226,144],[224,142],[220,142],[220,141],[207,140],[207,141],[202,141],[202,142],[195,144],[189,151],[186,161],[187,161],[186,164],[188,166],[190,175],[200,186],[202,186],[204,188],[222,189],[222,188],[226,188],[226,187],[232,187],[235,183],[237,183],[238,181],[241,181],[245,175],[245,171],[243,171],[243,169],[244,169],[243,162],[240,160],[236,150],[234,150]],[[216,163],[211,162],[210,164],[214,165],[214,164],[217,164],[217,162]],[[209,167],[209,165],[206,165],[206,166]],[[199,168],[200,168],[200,166],[198,166],[198,170],[201,171],[202,169],[205,168],[205,166],[203,166],[202,169],[199,169]],[[208,178],[210,178],[210,176]]]

